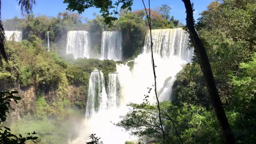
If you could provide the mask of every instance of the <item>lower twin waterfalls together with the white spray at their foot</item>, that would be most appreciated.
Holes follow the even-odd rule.
[[[122,72],[122,70],[120,72]],[[108,75],[108,94],[106,101],[105,97],[103,97],[103,95],[105,95],[103,76],[103,73],[98,70],[91,73],[85,112],[85,125],[80,131],[80,136],[73,140],[71,142],[72,144],[83,144],[85,141],[89,141],[88,135],[92,133],[97,133],[97,136],[100,136],[101,139],[104,140],[104,144],[123,144],[125,140],[131,138],[129,133],[122,131],[112,124],[112,122],[120,120],[119,116],[121,114],[128,111],[127,107],[122,103],[121,79],[119,79],[119,74],[118,72],[111,72]],[[100,85],[103,86],[102,89]],[[102,93],[98,93],[101,90]],[[98,111],[96,109],[98,105],[95,105],[95,101],[99,100],[97,97],[102,98],[101,105],[104,105],[104,107],[98,109]],[[118,137],[115,137],[113,140],[113,136]]]

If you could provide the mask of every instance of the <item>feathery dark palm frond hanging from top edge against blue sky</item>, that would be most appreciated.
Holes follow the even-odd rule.
[[[32,13],[33,6],[36,4],[36,0],[17,0],[23,17],[29,16]]]

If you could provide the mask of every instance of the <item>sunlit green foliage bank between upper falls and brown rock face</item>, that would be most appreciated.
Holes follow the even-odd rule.
[[[51,91],[68,84],[88,87],[90,73],[95,68],[101,70],[106,78],[109,72],[116,71],[113,60],[62,59],[57,52],[44,52],[44,49],[42,40],[38,38],[8,43],[10,61],[9,65],[3,65],[0,79],[7,81],[8,86],[13,86],[19,80],[21,86],[36,85],[42,91]]]

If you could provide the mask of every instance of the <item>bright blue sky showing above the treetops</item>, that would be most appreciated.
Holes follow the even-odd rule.
[[[2,1],[2,19],[10,19],[13,18],[15,15],[20,17],[20,7],[18,7],[17,0],[1,0]],[[115,1],[115,0],[113,0]],[[148,1],[148,0],[145,0]],[[199,16],[198,14],[201,13],[206,7],[210,4],[213,0],[191,0],[194,3],[194,17],[197,19]],[[63,3],[63,0],[36,0],[37,4],[33,8],[34,14],[41,14],[47,16],[57,16],[59,12],[64,12],[67,4]],[[185,7],[182,0],[151,0],[151,8],[160,7],[163,4],[167,4],[171,6],[171,13],[175,19],[180,20],[181,22],[185,23]],[[146,3],[148,5],[148,3]],[[142,0],[134,0],[132,11],[137,9],[143,9]],[[86,9],[84,13],[81,15],[84,18],[93,19],[92,13],[99,13],[99,9],[96,8],[89,8]]]

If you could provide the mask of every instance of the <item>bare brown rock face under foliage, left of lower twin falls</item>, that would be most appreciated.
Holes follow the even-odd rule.
[[[7,122],[8,124],[12,124],[19,118],[23,118],[27,115],[33,115],[36,112],[37,98],[39,96],[45,98],[47,104],[49,105],[51,105],[54,100],[59,98],[58,92],[56,90],[39,92],[34,86],[20,87],[20,85],[16,85],[15,88],[11,90],[18,91],[17,96],[21,97],[21,100],[18,100],[18,104],[16,104],[14,101],[11,102],[11,107],[15,111],[10,110],[10,116],[8,117]],[[67,90],[68,92],[66,99],[69,100],[71,104],[74,104],[76,101],[83,103],[86,102],[86,97],[82,91],[82,87],[68,85]]]

